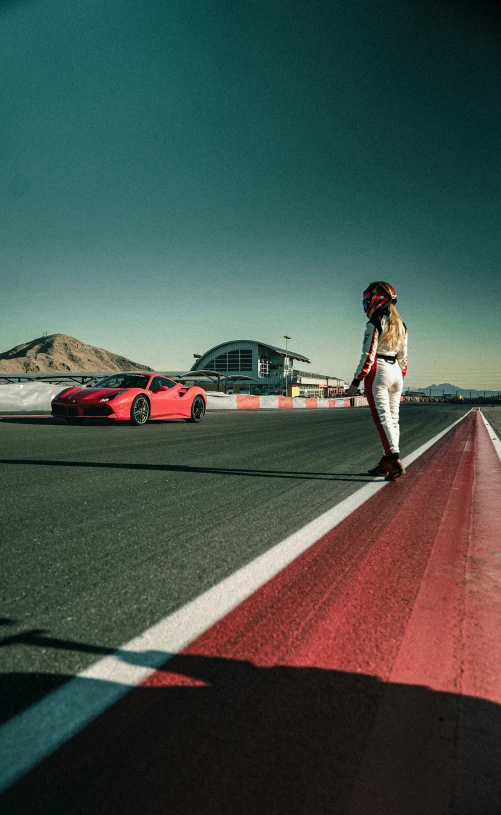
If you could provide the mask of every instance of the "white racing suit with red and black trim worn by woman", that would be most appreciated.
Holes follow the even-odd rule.
[[[390,348],[382,336],[388,317],[373,320],[365,328],[362,356],[352,384],[358,387],[362,380],[365,381],[365,395],[384,454],[398,458],[400,397],[407,373],[407,329],[398,346]]]

